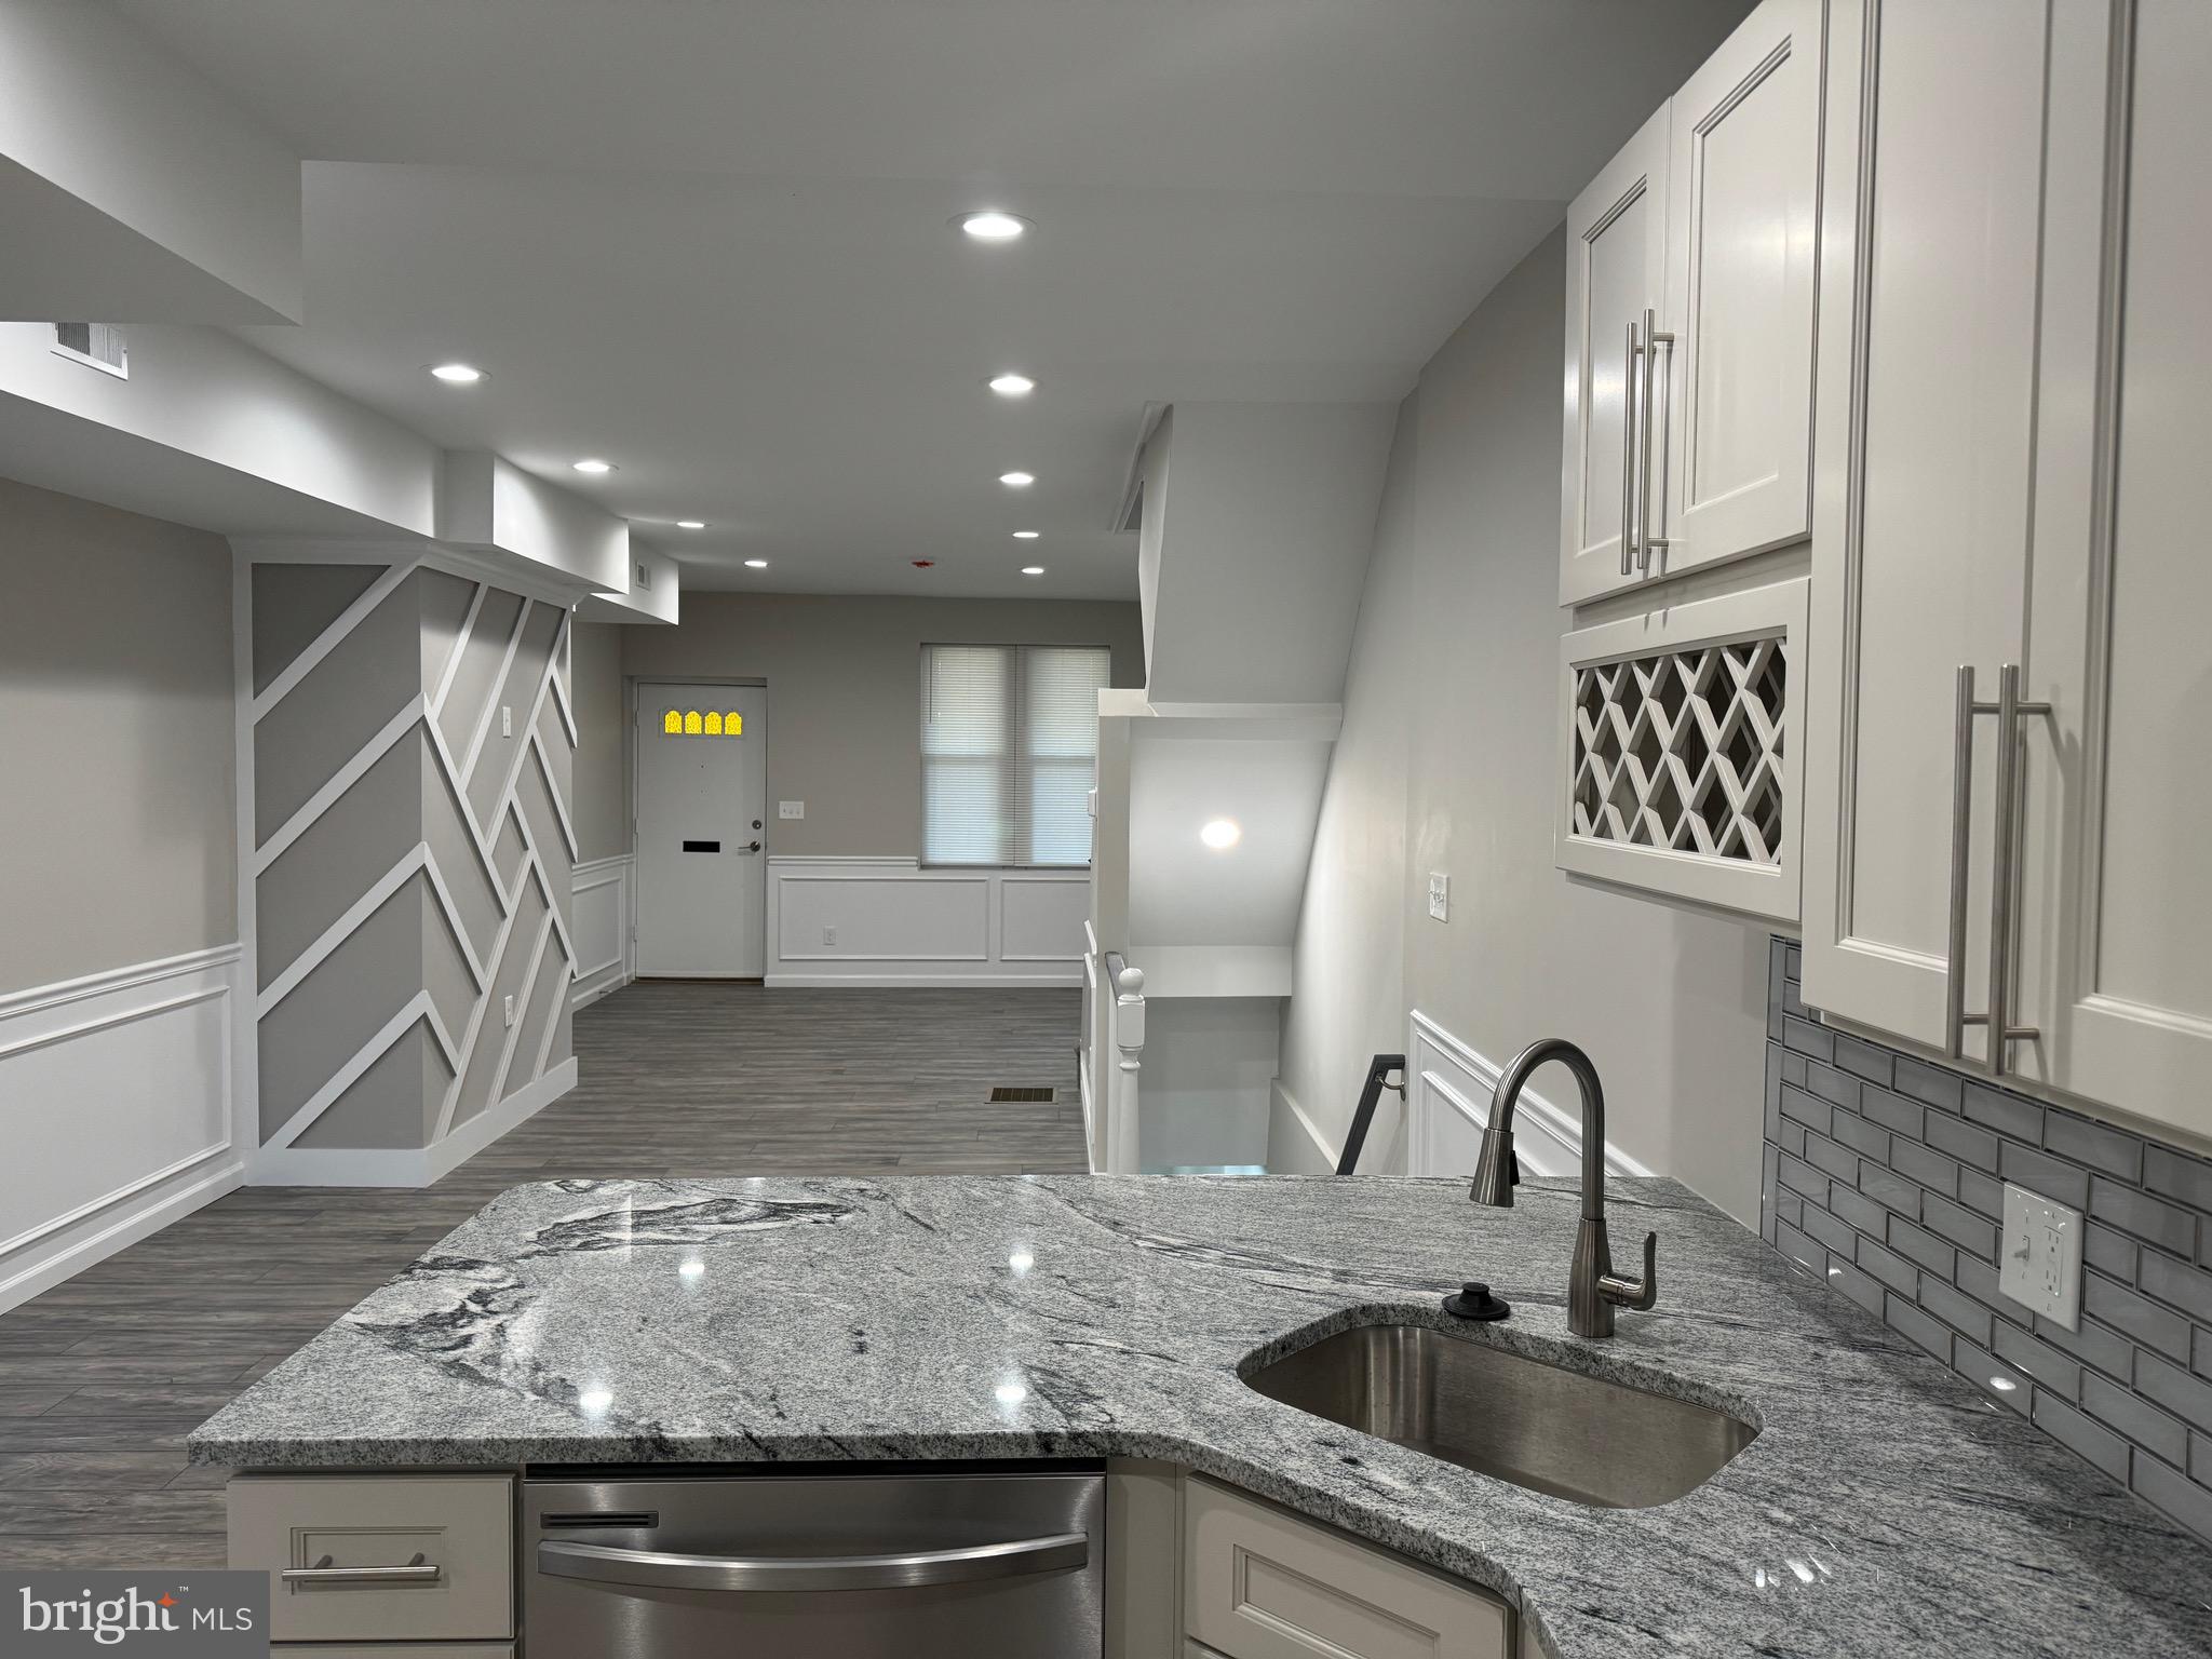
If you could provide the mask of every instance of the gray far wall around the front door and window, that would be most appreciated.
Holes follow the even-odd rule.
[[[1135,604],[686,593],[675,628],[624,628],[635,679],[765,679],[770,854],[918,856],[922,644],[1108,646],[1144,684]],[[580,717],[582,719],[582,717]]]

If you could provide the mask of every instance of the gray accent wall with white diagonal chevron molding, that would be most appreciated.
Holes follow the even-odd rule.
[[[252,1179],[425,1186],[575,1082],[571,613],[414,557],[241,584]]]

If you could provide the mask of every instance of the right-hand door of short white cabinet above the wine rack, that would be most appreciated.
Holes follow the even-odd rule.
[[[1820,13],[1765,0],[1674,95],[1652,575],[1812,529]]]

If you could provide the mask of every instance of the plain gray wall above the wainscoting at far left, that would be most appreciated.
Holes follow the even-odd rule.
[[[228,544],[0,480],[0,993],[228,945]]]

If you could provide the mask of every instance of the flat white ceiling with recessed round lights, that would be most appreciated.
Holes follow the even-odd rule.
[[[1057,597],[1135,597],[1106,526],[1148,400],[1396,400],[1745,11],[111,2],[310,159],[307,321],[263,349],[582,489],[688,586]],[[1037,230],[949,228],[987,204]]]

